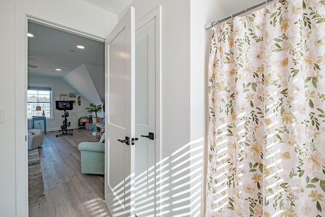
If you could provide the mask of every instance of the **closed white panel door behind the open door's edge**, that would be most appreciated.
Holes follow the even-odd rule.
[[[155,19],[136,30],[135,213],[155,216],[156,37]]]

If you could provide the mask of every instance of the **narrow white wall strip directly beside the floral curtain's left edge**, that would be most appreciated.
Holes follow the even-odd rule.
[[[207,83],[212,29],[205,30],[204,25],[225,14],[219,2],[215,0],[191,0],[190,4],[190,141],[192,141],[190,158],[193,165],[190,178],[191,207],[198,206],[200,201],[197,201],[197,198],[201,194],[201,213],[205,213],[209,118]],[[200,175],[200,167],[203,168],[201,185],[196,181]],[[193,209],[194,212],[197,210]]]

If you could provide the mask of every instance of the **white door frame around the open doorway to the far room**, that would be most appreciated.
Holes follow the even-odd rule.
[[[69,23],[39,11],[15,4],[15,162],[16,216],[28,216],[28,159],[27,159],[27,27],[28,21],[41,23],[64,32],[105,42],[105,38],[78,30]],[[103,54],[104,55],[104,54]],[[19,87],[19,88],[18,88]],[[23,88],[21,88],[23,87]]]

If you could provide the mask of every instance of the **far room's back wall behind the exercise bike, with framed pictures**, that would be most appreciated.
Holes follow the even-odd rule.
[[[63,111],[59,111],[55,109],[55,101],[59,100],[60,94],[68,94],[70,92],[75,92],[77,94],[76,97],[76,105],[73,106],[73,110],[68,111],[69,117],[68,121],[71,122],[71,127],[69,129],[78,128],[78,119],[82,116],[89,116],[89,113],[86,111],[86,107],[89,107],[89,103],[81,98],[81,106],[78,105],[77,100],[80,96],[79,92],[76,92],[66,81],[61,78],[45,78],[45,77],[35,77],[28,76],[28,85],[51,85],[52,86],[52,109],[53,116],[52,118],[47,118],[46,122],[46,130],[47,131],[57,131],[61,129],[62,125],[62,115]]]

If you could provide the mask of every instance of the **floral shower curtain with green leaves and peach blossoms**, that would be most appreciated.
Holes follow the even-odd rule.
[[[325,1],[213,30],[206,216],[325,216]]]

